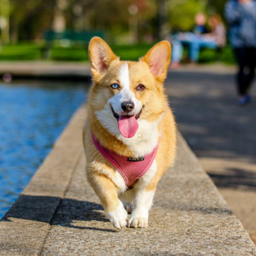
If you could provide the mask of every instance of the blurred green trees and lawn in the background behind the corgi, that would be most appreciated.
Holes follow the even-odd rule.
[[[0,0],[1,20],[9,22],[8,43],[2,40],[0,60],[35,60],[42,57],[45,31],[104,31],[105,38],[123,59],[137,59],[156,41],[177,31],[189,31],[197,12],[223,17],[225,0]],[[2,8],[3,9],[3,8]],[[161,31],[164,33],[161,34]],[[202,51],[200,61],[216,58],[232,63],[229,47],[216,57]],[[87,60],[83,44],[54,44],[53,60]]]

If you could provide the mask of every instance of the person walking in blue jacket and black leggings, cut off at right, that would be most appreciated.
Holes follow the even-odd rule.
[[[229,0],[225,15],[230,24],[230,42],[239,66],[238,103],[250,102],[249,94],[256,66],[256,1]]]

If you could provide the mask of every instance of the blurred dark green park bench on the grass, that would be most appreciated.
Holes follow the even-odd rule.
[[[45,45],[43,47],[43,58],[49,59],[51,56],[51,49],[55,41],[60,41],[61,45],[68,46],[70,42],[80,42],[85,48],[87,48],[91,38],[93,36],[99,36],[104,39],[103,31],[65,31],[65,32],[54,32],[46,31],[44,33]]]

